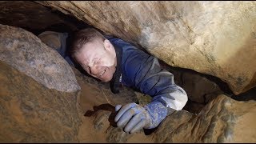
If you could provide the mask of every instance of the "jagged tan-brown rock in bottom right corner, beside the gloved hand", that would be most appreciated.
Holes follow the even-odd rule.
[[[197,115],[175,112],[159,126],[154,142],[256,142],[256,102],[219,95]]]

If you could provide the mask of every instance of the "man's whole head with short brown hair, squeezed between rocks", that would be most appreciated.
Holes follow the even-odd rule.
[[[114,46],[98,30],[78,31],[72,46],[72,57],[94,78],[109,82],[117,65]]]

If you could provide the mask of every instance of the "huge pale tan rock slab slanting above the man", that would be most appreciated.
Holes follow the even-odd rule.
[[[138,43],[170,66],[221,78],[234,94],[256,84],[256,2],[36,2]]]

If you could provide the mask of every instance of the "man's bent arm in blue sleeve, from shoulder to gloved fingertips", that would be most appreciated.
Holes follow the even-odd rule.
[[[149,94],[153,100],[143,108],[136,104],[128,104],[119,110],[119,106],[115,121],[118,122],[118,126],[125,126],[127,123],[126,131],[135,131],[139,126],[151,129],[158,126],[174,110],[182,110],[186,105],[187,95],[185,90],[174,83],[174,75],[161,69],[157,58],[134,46],[126,46],[129,48],[126,50],[127,55],[122,64],[123,81],[127,86],[133,86],[142,93]],[[138,120],[134,120],[131,115]],[[150,118],[150,121],[146,121],[145,118]],[[133,123],[136,122],[138,124],[134,125]]]

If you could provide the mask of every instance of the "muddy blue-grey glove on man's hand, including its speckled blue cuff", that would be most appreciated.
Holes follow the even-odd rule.
[[[161,102],[150,102],[145,107],[136,103],[129,103],[125,106],[115,106],[118,114],[114,122],[118,122],[118,127],[125,127],[125,132],[134,133],[142,128],[152,129],[159,125],[166,118],[167,110]]]

